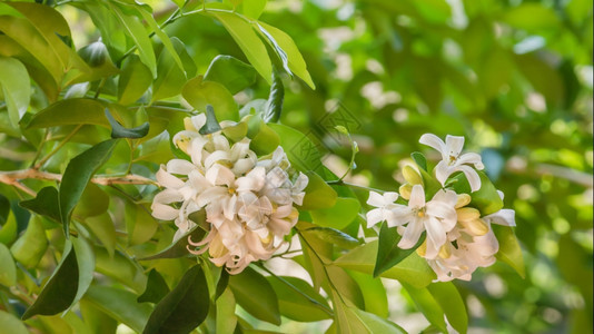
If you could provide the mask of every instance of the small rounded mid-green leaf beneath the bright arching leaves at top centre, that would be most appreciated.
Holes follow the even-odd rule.
[[[205,81],[219,82],[235,95],[256,84],[256,76],[250,65],[231,56],[219,55],[208,66]]]

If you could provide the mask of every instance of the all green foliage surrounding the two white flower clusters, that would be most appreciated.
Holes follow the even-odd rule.
[[[592,3],[147,2],[0,2],[7,331],[592,331]],[[200,213],[176,242],[150,213],[198,112],[309,179],[290,250],[238,275],[187,252]],[[498,188],[516,210],[471,282],[432,283],[418,245],[362,218],[369,189],[406,185],[400,161],[442,187],[425,132],[481,151],[471,206],[497,212]]]

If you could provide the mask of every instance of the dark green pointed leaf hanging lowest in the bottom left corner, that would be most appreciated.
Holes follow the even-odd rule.
[[[77,296],[78,282],[77,255],[72,248],[72,243],[67,240],[62,259],[33,305],[27,308],[22,320],[28,320],[37,314],[53,315],[70,307]]]

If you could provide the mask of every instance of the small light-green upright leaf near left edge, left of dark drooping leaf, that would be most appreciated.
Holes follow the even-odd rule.
[[[34,268],[48,249],[48,238],[40,216],[32,216],[27,230],[10,247],[14,259],[28,268]]]

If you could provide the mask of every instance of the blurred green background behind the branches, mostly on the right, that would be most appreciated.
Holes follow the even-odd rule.
[[[176,8],[146,2],[161,21]],[[99,38],[82,12],[59,10],[76,45]],[[522,279],[497,263],[456,282],[469,333],[592,332],[591,1],[277,0],[261,20],[295,39],[317,86],[285,78],[281,121],[317,138],[325,164],[340,171],[348,143],[324,130],[325,116],[337,110],[336,121],[360,147],[350,181],[397,189],[403,159],[425,150],[417,143],[425,132],[465,136],[466,148],[482,153],[506,207],[516,210],[527,271]],[[166,30],[190,48],[198,72],[219,53],[245,60],[210,18]],[[268,90],[260,78],[236,99],[266,98]],[[390,317],[425,327],[398,285],[389,288]]]

